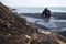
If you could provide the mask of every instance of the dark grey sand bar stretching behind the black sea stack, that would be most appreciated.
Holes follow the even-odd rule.
[[[42,13],[20,13],[19,15],[43,19]],[[66,13],[63,12],[52,12],[51,16],[57,20],[66,20]]]

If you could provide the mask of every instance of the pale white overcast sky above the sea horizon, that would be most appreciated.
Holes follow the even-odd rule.
[[[66,7],[66,0],[0,0],[8,7]]]

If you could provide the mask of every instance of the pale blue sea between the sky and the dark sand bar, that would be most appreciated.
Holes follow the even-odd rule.
[[[18,13],[42,13],[44,7],[12,7]],[[66,12],[66,7],[48,7],[52,12]]]

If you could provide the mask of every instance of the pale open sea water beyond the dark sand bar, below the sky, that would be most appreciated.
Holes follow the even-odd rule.
[[[14,8],[19,13],[42,13],[45,8]],[[48,8],[52,12],[66,12],[66,8]]]

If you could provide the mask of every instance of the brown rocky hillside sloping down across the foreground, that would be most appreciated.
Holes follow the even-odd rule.
[[[0,44],[66,44],[61,35],[37,30],[0,2]]]

